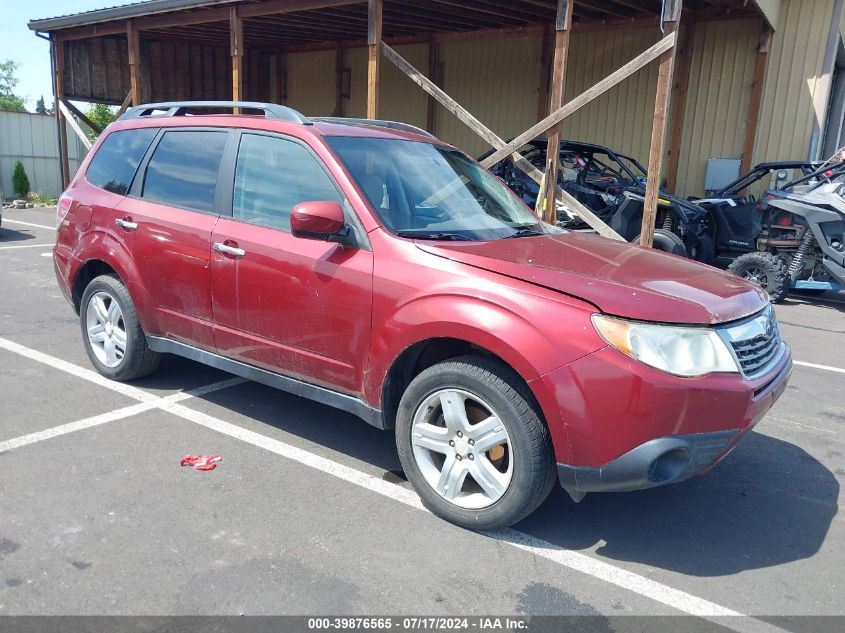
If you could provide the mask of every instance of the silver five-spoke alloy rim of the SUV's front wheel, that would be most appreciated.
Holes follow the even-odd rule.
[[[458,507],[491,506],[510,486],[510,436],[493,408],[472,393],[441,389],[426,397],[414,412],[411,444],[425,481]]]

